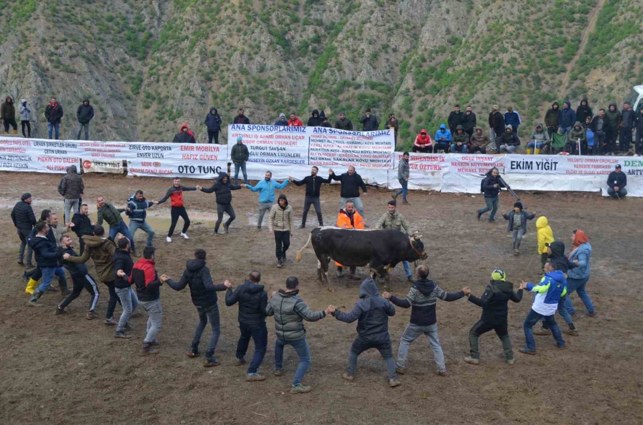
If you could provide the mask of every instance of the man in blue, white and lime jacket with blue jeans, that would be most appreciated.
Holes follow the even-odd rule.
[[[559,349],[565,349],[565,340],[561,330],[556,324],[554,313],[558,308],[558,302],[561,297],[567,293],[565,275],[560,270],[556,270],[555,265],[552,263],[545,263],[545,275],[538,282],[532,284],[521,281],[520,289],[536,293],[534,303],[531,306],[529,314],[523,322],[523,330],[525,331],[525,347],[520,349],[524,354],[536,354],[536,340],[534,340],[534,333],[532,327],[540,320],[545,320],[545,324],[551,329],[556,340],[556,346]]]

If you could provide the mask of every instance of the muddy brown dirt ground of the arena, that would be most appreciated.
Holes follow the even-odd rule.
[[[0,198],[13,205],[21,193],[30,191],[37,214],[44,205],[58,200],[60,176],[35,173],[2,173]],[[148,198],[165,194],[170,180],[89,175],[85,177],[86,198],[95,204],[96,195],[107,196],[116,205],[124,204],[134,189],[144,189]],[[205,184],[186,180],[186,185]],[[301,216],[303,187],[284,190]],[[338,187],[324,187],[322,208],[328,223],[338,207]],[[107,290],[100,284],[101,298],[96,311],[101,320],[84,319],[88,295],[83,293],[71,306],[71,314],[54,316],[59,293],[47,293],[44,307],[28,308],[21,268],[15,263],[19,239],[5,209],[0,226],[0,252],[5,259],[0,288],[0,422],[3,424],[623,424],[643,423],[642,380],[643,296],[639,287],[643,265],[640,226],[643,200],[605,199],[598,194],[521,193],[529,211],[545,214],[554,235],[568,243],[575,228],[587,232],[593,246],[592,276],[588,291],[597,307],[597,318],[586,317],[582,304],[575,322],[579,336],[567,336],[567,349],[559,351],[550,337],[536,336],[537,356],[517,352],[524,343],[522,320],[530,309],[532,295],[510,306],[509,325],[516,351],[516,363],[507,366],[498,358],[501,345],[493,333],[481,339],[482,363],[472,366],[462,358],[468,352],[468,332],[480,317],[480,308],[466,299],[438,302],[440,340],[449,375],[435,375],[433,354],[426,340],[418,339],[410,349],[407,373],[402,386],[391,389],[385,381],[385,365],[376,351],[359,358],[353,383],[341,379],[350,344],[356,336],[354,324],[332,317],[307,325],[312,366],[304,383],[313,391],[291,395],[288,388],[296,369],[296,354],[285,351],[285,375],[275,377],[273,367],[274,322],[267,319],[269,344],[262,372],[266,381],[247,383],[244,369],[233,365],[239,334],[237,307],[226,308],[219,297],[222,334],[217,356],[222,364],[204,368],[203,357],[186,357],[194,325],[195,308],[187,290],[177,293],[161,288],[164,317],[160,352],[137,355],[145,331],[146,317],[132,319],[132,340],[113,338],[113,327],[102,323]],[[384,211],[390,191],[371,189],[364,197],[365,215],[373,223]],[[399,210],[413,229],[424,235],[428,247],[431,277],[445,290],[470,286],[480,295],[494,268],[503,268],[512,282],[537,281],[535,220],[529,222],[519,257],[512,256],[511,236],[506,222],[496,225],[475,220],[475,210],[484,204],[480,195],[453,195],[412,192],[412,205]],[[186,205],[212,211],[213,195],[186,193]],[[53,204],[56,205],[56,202]],[[169,204],[169,203],[168,203]],[[334,304],[346,310],[358,298],[358,283],[331,275],[336,291],[316,284],[316,259],[307,248],[301,263],[275,268],[273,238],[255,227],[257,195],[247,189],[233,193],[237,221],[225,236],[213,236],[207,215],[195,218],[188,232],[190,240],[176,237],[165,242],[169,205],[155,213],[155,245],[159,272],[179,277],[194,249],[208,250],[208,264],[215,281],[243,281],[252,268],[262,272],[270,292],[280,288],[289,275],[299,277],[300,295],[313,309]],[[501,211],[513,204],[501,196]],[[6,206],[6,205],[5,205]],[[156,208],[156,207],[155,207]],[[312,215],[312,219],[311,219]],[[316,223],[309,214],[309,229],[294,232],[289,257],[294,258]],[[179,222],[180,223],[180,222]],[[265,224],[264,224],[265,226]],[[180,227],[180,224],[179,224]],[[177,236],[177,235],[176,235]],[[144,234],[136,241],[143,243]],[[361,270],[363,275],[366,271]],[[93,273],[93,266],[90,266]],[[394,292],[406,295],[409,284],[401,265],[394,270]],[[116,309],[120,315],[120,307]],[[390,320],[390,333],[397,347],[410,310],[398,308]],[[557,317],[557,322],[562,323]],[[208,335],[209,327],[205,335]],[[207,340],[205,336],[204,340]],[[202,352],[204,351],[202,341]],[[252,345],[251,345],[252,347]],[[251,356],[251,352],[249,354]],[[249,357],[248,356],[248,357]]]

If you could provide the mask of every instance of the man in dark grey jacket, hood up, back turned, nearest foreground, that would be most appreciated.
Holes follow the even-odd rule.
[[[393,347],[388,334],[388,317],[395,315],[395,307],[388,300],[379,297],[375,281],[370,277],[359,285],[359,301],[348,313],[333,308],[332,315],[340,322],[358,321],[358,337],[354,340],[349,352],[349,366],[341,377],[347,381],[355,379],[358,356],[368,349],[377,349],[386,362],[388,385],[399,386],[393,360]]]

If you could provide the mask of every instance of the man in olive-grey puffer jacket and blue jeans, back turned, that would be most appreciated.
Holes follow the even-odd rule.
[[[303,300],[298,297],[299,279],[294,276],[285,281],[285,290],[273,292],[272,298],[266,306],[266,316],[275,317],[275,376],[284,374],[284,345],[292,345],[299,356],[299,366],[294,372],[293,385],[290,387],[292,394],[310,392],[311,387],[302,385],[306,370],[311,365],[311,351],[306,340],[306,329],[303,320],[316,322],[326,315],[331,314],[332,306],[322,311],[312,311]]]

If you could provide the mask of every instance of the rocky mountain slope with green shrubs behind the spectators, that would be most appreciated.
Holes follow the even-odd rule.
[[[1,95],[42,111],[54,94],[75,137],[203,141],[210,105],[230,123],[312,108],[401,119],[401,143],[453,104],[512,105],[531,126],[553,100],[622,101],[643,83],[637,0],[21,0],[0,8]]]

